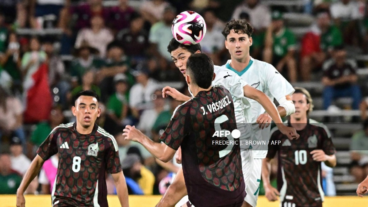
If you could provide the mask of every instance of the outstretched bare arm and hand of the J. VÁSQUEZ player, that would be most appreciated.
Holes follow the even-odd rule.
[[[168,162],[174,157],[176,150],[168,147],[164,143],[156,143],[152,141],[134,126],[127,125],[123,131],[123,135],[126,136],[125,140],[132,140],[141,143],[153,156],[159,160]]]

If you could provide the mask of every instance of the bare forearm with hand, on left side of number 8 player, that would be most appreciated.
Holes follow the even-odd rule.
[[[27,172],[24,174],[21,185],[17,190],[17,207],[25,206],[25,199],[23,193],[25,192],[29,184],[32,182],[32,180],[35,179],[35,177],[38,175],[44,162],[45,160],[43,160],[39,155],[36,155],[36,157],[33,159]]]

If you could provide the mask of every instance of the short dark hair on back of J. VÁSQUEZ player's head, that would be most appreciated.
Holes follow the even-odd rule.
[[[213,79],[213,62],[206,54],[195,53],[188,58],[187,73],[198,87],[209,88]]]

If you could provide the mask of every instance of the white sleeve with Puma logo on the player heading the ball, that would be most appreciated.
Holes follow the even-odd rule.
[[[238,74],[224,67],[215,66],[216,77],[212,81],[212,86],[222,85],[230,91],[233,97],[244,98],[243,87],[247,83]]]

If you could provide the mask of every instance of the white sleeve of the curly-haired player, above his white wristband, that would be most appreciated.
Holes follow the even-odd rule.
[[[263,78],[265,78],[268,91],[277,101],[286,95],[294,93],[293,86],[273,67],[267,63],[266,70],[263,70]]]

